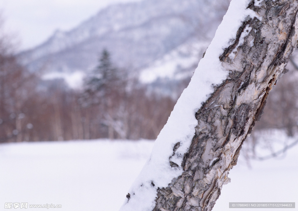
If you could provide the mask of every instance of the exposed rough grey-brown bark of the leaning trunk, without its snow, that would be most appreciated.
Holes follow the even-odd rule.
[[[198,124],[181,163],[183,171],[167,187],[156,189],[151,210],[212,209],[229,182],[243,141],[260,119],[269,91],[286,72],[297,45],[297,0],[255,0],[247,8],[257,15],[244,19],[219,57],[229,74],[195,113]],[[179,145],[173,147],[173,156]],[[171,160],[170,164],[179,167]],[[133,194],[127,195],[127,204]]]

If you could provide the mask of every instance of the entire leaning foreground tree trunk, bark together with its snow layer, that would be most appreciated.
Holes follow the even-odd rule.
[[[298,2],[233,0],[121,211],[211,210],[297,45]]]

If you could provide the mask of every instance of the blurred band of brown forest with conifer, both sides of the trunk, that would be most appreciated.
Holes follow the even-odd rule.
[[[42,80],[29,72],[13,52],[10,37],[0,27],[0,142],[73,139],[155,139],[177,98],[148,91],[130,68],[111,62],[102,49],[98,66],[81,90],[63,79]],[[278,128],[297,133],[298,71],[295,52],[289,72],[269,94],[264,114],[254,130]],[[178,96],[190,78],[175,84]],[[179,91],[177,91],[179,90]]]

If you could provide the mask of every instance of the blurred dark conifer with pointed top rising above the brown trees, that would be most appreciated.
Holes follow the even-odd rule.
[[[81,103],[84,107],[93,107],[96,113],[93,120],[101,126],[108,127],[107,137],[114,138],[115,128],[119,125],[119,110],[123,98],[123,80],[120,80],[119,69],[111,62],[110,53],[104,49],[98,66],[85,80]],[[104,132],[104,133],[105,133]]]

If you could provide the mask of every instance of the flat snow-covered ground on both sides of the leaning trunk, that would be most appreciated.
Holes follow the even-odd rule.
[[[148,140],[1,144],[1,210],[11,210],[4,209],[5,203],[27,202],[26,210],[45,210],[30,209],[30,204],[61,204],[58,210],[117,211],[153,144]],[[283,158],[252,160],[251,168],[240,155],[229,174],[232,181],[224,185],[213,210],[230,210],[229,202],[298,202],[297,150],[298,146],[289,149]]]

